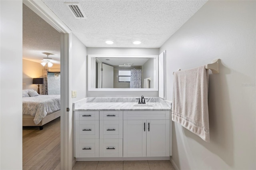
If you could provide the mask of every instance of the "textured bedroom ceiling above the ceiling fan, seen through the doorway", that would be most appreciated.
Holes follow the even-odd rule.
[[[52,63],[60,63],[60,33],[24,4],[22,36],[23,59],[41,62],[48,52]]]

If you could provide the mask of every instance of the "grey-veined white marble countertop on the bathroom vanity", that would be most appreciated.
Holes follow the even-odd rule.
[[[94,100],[95,101],[95,100]],[[146,102],[146,104],[138,104],[138,102],[88,102],[88,99],[73,104],[73,111],[170,111],[171,103],[164,100],[156,102]]]

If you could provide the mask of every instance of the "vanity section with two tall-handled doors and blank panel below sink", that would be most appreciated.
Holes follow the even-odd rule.
[[[170,111],[124,111],[123,119],[123,157],[170,155]]]

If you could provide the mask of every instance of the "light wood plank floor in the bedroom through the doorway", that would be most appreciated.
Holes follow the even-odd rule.
[[[39,127],[23,127],[23,170],[60,170],[60,117]]]

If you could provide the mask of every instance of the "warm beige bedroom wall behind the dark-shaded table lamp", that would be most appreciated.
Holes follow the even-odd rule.
[[[43,66],[40,63],[22,59],[22,89],[34,89],[37,91],[38,85],[32,84],[33,78],[41,78]],[[40,85],[40,92],[41,92]]]

